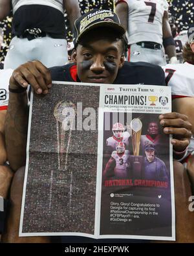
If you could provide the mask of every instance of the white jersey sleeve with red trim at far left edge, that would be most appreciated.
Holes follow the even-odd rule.
[[[9,80],[12,75],[12,69],[0,70],[0,110],[6,110],[9,99]]]

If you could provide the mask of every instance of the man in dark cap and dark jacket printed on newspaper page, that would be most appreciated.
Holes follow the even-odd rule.
[[[145,146],[144,175],[146,180],[167,181],[167,170],[165,163],[155,156],[155,145]]]

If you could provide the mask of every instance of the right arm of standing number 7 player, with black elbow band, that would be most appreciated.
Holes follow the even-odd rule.
[[[162,20],[162,33],[163,33],[163,45],[164,45],[165,52],[167,56],[169,56],[170,63],[176,64],[177,56],[176,56],[175,41],[171,33],[171,27],[169,25],[167,11],[164,11],[164,16]]]

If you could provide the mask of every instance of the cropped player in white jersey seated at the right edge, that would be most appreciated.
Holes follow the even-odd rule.
[[[188,29],[188,41],[183,48],[184,64],[166,65],[166,84],[172,88],[173,110],[184,113],[192,124],[188,158],[183,160],[194,184],[194,25]],[[194,192],[194,185],[192,187]]]

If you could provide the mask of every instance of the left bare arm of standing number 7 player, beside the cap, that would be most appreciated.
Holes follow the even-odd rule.
[[[128,29],[128,5],[125,1],[116,1],[116,14],[125,30]]]

